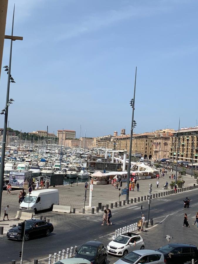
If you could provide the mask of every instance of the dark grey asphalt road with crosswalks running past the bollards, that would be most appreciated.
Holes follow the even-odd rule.
[[[185,199],[186,196],[191,199],[191,208],[189,209],[183,208],[183,199]],[[142,204],[143,214],[147,219],[148,202],[145,201],[142,202]],[[115,229],[129,225],[140,219],[140,207],[141,203],[136,203],[122,208],[112,209],[112,226],[101,226],[102,213],[94,215],[70,214],[68,215],[67,221],[60,221],[60,224],[55,226],[53,233],[49,237],[32,239],[25,242],[24,260],[31,262],[34,259],[42,259],[47,257],[49,254],[62,251],[62,249],[66,249],[71,246],[76,245],[79,247],[84,242],[89,240],[98,240],[107,245],[109,241],[111,241]],[[159,246],[165,245],[166,241],[165,239],[162,240],[159,236],[160,232],[162,232],[162,236],[164,237],[164,233],[167,233],[171,227],[171,235],[174,236],[174,230],[181,231],[182,229],[183,213],[191,211],[191,215],[194,216],[196,211],[198,211],[197,208],[197,189],[177,195],[169,195],[167,197],[154,199],[150,205],[150,217],[152,217],[155,224],[158,225],[148,230],[147,233],[141,232],[141,236],[145,240],[145,248],[155,249],[159,248]],[[183,209],[184,211],[181,211]],[[174,216],[176,216],[176,219]],[[193,222],[193,220],[194,219],[191,221]],[[163,223],[160,223],[161,221],[163,221]],[[196,241],[198,241],[198,228],[192,227],[192,229],[193,228],[196,231],[195,233],[193,231],[193,239],[196,244]],[[188,236],[192,235],[187,232],[184,239],[181,236],[181,242],[185,240],[186,243],[188,243]],[[178,235],[178,239],[179,238],[180,235]],[[19,251],[21,250],[21,246],[22,242],[7,240],[7,238],[5,238],[4,241],[0,241],[0,263],[11,263],[12,259],[19,261]],[[110,256],[109,260],[115,261],[116,258]]]

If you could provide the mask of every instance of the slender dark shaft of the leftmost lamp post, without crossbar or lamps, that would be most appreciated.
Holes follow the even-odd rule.
[[[14,11],[12,18],[12,34],[13,36],[13,26],[14,26]],[[10,41],[10,58],[9,58],[9,68],[8,68],[8,82],[7,82],[7,93],[6,93],[6,108],[5,108],[5,117],[4,117],[4,133],[2,139],[2,149],[1,149],[1,167],[0,167],[0,208],[2,201],[2,192],[3,192],[3,181],[4,181],[4,160],[5,160],[5,150],[6,150],[6,133],[7,133],[7,122],[8,122],[8,101],[9,101],[9,92],[10,92],[10,71],[11,71],[11,59],[12,59],[12,39]],[[0,210],[1,217],[1,210]]]

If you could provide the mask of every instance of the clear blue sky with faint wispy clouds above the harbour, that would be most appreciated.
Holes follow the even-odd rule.
[[[196,126],[197,0],[9,0],[6,35],[14,3],[11,128],[130,133],[136,66],[134,132]],[[2,69],[2,109],[6,86]]]

